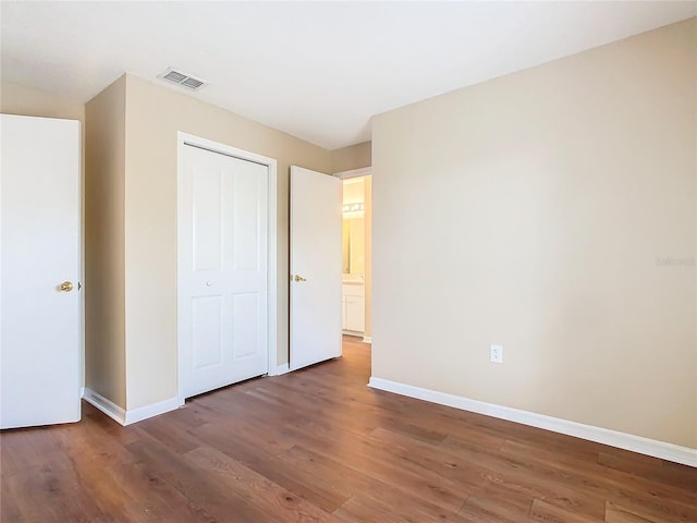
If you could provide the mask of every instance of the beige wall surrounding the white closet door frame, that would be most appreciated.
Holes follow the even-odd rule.
[[[278,365],[288,362],[289,167],[330,172],[330,153],[126,75],[127,408],[176,396],[176,133],[278,160]]]

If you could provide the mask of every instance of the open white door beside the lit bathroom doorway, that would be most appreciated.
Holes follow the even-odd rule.
[[[341,356],[341,180],[291,167],[291,369]]]

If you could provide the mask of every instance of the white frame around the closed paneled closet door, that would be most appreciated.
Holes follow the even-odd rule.
[[[193,134],[183,132],[176,133],[176,397],[180,405],[184,404],[183,385],[183,362],[182,351],[180,351],[182,340],[182,324],[179,320],[179,312],[182,308],[182,296],[180,295],[180,283],[182,281],[183,266],[182,252],[179,248],[182,217],[182,186],[184,182],[184,147],[194,146],[201,149],[217,153],[241,160],[253,161],[268,169],[268,205],[267,205],[267,374],[272,375],[277,361],[277,315],[278,315],[278,256],[277,256],[277,178],[278,162],[273,158],[257,155],[248,150],[239,149],[230,145],[213,142]]]

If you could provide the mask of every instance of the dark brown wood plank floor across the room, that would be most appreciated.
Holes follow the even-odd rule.
[[[372,390],[355,340],[129,427],[3,431],[2,522],[697,522],[697,469]]]

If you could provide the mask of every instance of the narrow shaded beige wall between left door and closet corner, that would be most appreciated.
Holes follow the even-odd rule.
[[[85,108],[85,385],[122,409],[125,88],[121,77]]]

